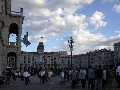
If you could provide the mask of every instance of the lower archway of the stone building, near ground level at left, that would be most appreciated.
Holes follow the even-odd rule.
[[[16,69],[17,68],[16,61],[17,61],[16,53],[9,52],[7,54],[7,66]]]

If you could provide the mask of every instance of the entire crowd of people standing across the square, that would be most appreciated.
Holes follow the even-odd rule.
[[[34,74],[33,74],[34,72]],[[5,85],[9,85],[10,78],[16,80],[14,69],[8,69],[3,71],[5,76]],[[90,90],[102,90],[109,88],[109,90],[114,90],[116,85],[120,88],[120,63],[116,67],[110,66],[98,66],[93,68],[89,66],[88,68],[61,68],[61,69],[42,69],[39,70],[28,70],[21,69],[21,81],[25,81],[25,85],[31,84],[30,76],[37,75],[39,78],[39,83],[50,83],[53,84],[52,78],[54,76],[59,76],[61,78],[61,83],[66,83],[72,81],[71,86],[74,89],[75,86],[80,86],[84,89],[88,86]]]

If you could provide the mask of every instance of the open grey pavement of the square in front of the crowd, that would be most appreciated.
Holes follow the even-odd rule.
[[[16,81],[11,79],[10,85],[0,86],[0,90],[73,90],[71,87],[71,81],[67,82],[65,85],[60,85],[60,77],[52,77],[52,84],[44,83],[39,84],[39,78],[37,76],[31,76],[28,86],[24,85],[24,81],[17,78]],[[81,90],[80,86],[76,86],[75,90]],[[84,90],[89,90],[88,87]],[[109,88],[106,90],[110,90]],[[115,88],[115,90],[120,90],[120,88]]]

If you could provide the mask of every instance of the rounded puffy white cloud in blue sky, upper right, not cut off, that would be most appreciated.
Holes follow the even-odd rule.
[[[104,14],[96,11],[95,13],[93,13],[92,17],[90,17],[89,22],[91,25],[95,26],[94,30],[97,30],[99,27],[106,26],[107,22],[104,22],[104,19]]]

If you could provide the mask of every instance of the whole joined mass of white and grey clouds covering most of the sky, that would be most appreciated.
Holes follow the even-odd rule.
[[[57,39],[59,47],[54,46],[52,51],[69,50],[70,36],[74,40],[74,54],[86,53],[95,49],[112,48],[113,43],[119,41],[116,37],[106,38],[101,33],[93,34],[88,29],[93,25],[97,30],[106,26],[105,15],[96,11],[91,17],[77,14],[84,5],[92,4],[94,0],[12,0],[12,10],[24,8],[24,31],[29,32],[30,42],[47,42],[48,38],[68,32],[70,35]],[[41,37],[44,37],[43,39]],[[68,52],[70,53],[70,52]]]

